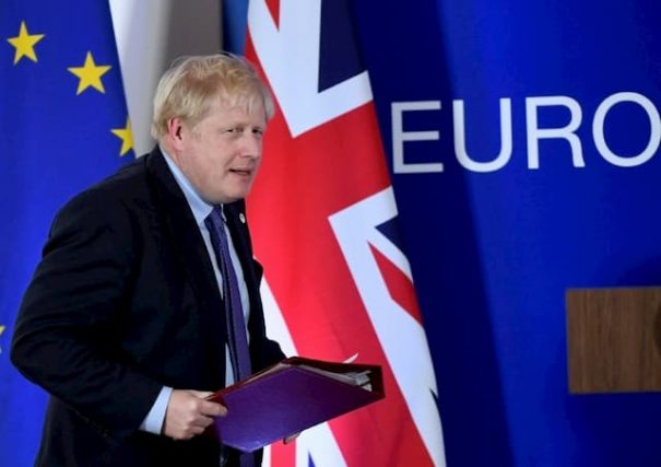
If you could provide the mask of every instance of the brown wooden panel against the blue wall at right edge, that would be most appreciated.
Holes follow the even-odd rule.
[[[567,291],[570,393],[661,390],[661,288]]]

